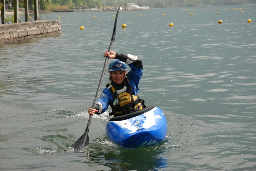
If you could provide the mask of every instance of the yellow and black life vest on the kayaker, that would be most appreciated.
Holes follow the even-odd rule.
[[[141,100],[137,95],[132,95],[132,90],[128,82],[128,78],[125,78],[124,84],[126,85],[127,89],[126,91],[119,94],[117,94],[116,92],[116,89],[114,87],[115,84],[109,83],[106,85],[106,87],[108,87],[109,91],[111,92],[113,100],[118,100],[118,104],[110,104],[112,112],[110,112],[109,115],[121,116],[146,107],[144,105],[144,100]]]

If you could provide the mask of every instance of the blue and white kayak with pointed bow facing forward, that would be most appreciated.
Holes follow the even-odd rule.
[[[109,139],[124,148],[139,148],[162,142],[167,133],[164,112],[153,106],[110,119],[106,125]]]

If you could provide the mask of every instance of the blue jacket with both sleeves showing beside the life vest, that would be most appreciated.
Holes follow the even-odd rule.
[[[129,80],[129,86],[132,90],[132,95],[138,95],[139,93],[139,82],[143,73],[142,61],[138,56],[133,56],[131,54],[118,54],[116,53],[116,59],[126,63],[131,70],[127,71],[126,76]],[[118,90],[117,90],[118,91]],[[105,112],[108,109],[108,105],[113,105],[113,97],[111,92],[107,87],[105,87],[100,95],[100,99],[97,103],[100,105],[99,114]]]

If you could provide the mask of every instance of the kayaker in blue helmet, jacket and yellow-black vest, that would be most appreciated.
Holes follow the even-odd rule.
[[[121,116],[145,108],[144,100],[139,99],[139,81],[142,76],[143,66],[139,57],[131,54],[118,54],[105,51],[104,57],[113,59],[108,67],[108,78],[111,82],[103,89],[100,99],[97,100],[95,109],[89,108],[89,115],[102,114],[111,106],[109,115]],[[127,69],[127,64],[131,68]]]

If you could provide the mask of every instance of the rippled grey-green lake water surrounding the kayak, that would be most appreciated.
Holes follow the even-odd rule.
[[[124,149],[105,135],[108,114],[95,115],[80,153],[70,147],[84,133],[116,12],[40,14],[60,16],[60,37],[0,47],[0,170],[255,170],[255,8],[120,11],[112,50],[142,59],[140,97],[163,109],[168,133]]]

